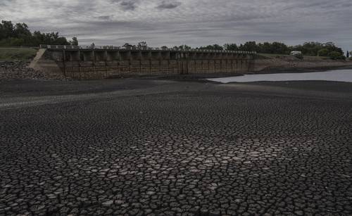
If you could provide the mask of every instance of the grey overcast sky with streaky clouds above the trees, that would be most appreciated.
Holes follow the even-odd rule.
[[[80,44],[318,41],[352,50],[351,0],[0,0],[0,19]]]

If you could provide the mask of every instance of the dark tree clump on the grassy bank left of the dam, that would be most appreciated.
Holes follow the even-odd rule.
[[[13,24],[11,21],[2,20],[0,23],[0,46],[39,46],[40,44],[52,45],[78,45],[77,37],[68,41],[58,32],[42,33],[31,32],[25,23]]]

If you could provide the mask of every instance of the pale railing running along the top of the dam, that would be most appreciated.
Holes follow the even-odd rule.
[[[237,54],[256,54],[255,51],[230,51],[230,50],[213,50],[213,49],[179,49],[179,48],[153,48],[153,47],[125,47],[125,46],[70,46],[70,45],[40,45],[41,49],[97,49],[97,50],[136,50],[136,51],[193,51],[193,52],[211,52],[211,53],[237,53]]]

